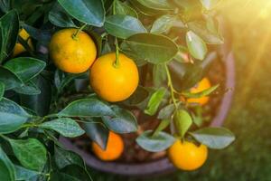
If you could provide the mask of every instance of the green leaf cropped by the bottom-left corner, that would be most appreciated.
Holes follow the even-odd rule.
[[[14,164],[5,155],[5,152],[1,147],[0,147],[0,180],[3,180],[3,181],[15,180]]]

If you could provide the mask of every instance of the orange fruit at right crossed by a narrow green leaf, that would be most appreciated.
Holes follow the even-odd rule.
[[[195,87],[193,87],[190,91],[192,93],[198,93],[198,92],[201,92],[203,90],[207,90],[211,87],[210,85],[210,81],[208,78],[203,78]],[[210,97],[208,96],[204,96],[204,97],[201,97],[201,98],[190,98],[190,99],[187,99],[188,102],[194,102],[194,103],[198,103],[200,104],[201,106],[207,104],[210,100]]]

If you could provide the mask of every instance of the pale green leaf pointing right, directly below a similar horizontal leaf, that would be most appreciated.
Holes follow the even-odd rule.
[[[85,133],[75,120],[69,118],[53,119],[48,122],[43,122],[39,127],[42,129],[55,130],[62,136],[69,138],[79,137]]]

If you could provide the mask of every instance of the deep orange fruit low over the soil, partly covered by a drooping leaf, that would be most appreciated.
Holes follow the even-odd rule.
[[[107,148],[103,150],[97,143],[92,142],[92,150],[98,158],[105,161],[111,161],[121,156],[124,150],[124,142],[119,135],[110,131],[107,140]]]

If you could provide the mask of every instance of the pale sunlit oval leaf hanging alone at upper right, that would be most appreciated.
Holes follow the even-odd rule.
[[[192,31],[189,31],[188,33],[186,33],[186,43],[189,52],[195,59],[199,59],[202,61],[205,58],[205,55],[207,53],[207,46],[203,42],[203,40],[201,40],[200,36],[193,33]]]

